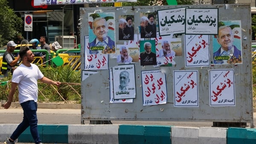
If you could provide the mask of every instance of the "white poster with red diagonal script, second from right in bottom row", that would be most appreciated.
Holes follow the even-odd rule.
[[[198,71],[173,71],[174,107],[199,107]]]

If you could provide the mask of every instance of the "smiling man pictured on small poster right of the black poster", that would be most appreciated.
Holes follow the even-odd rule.
[[[175,51],[170,47],[168,40],[163,40],[161,43],[162,49],[159,51],[159,58],[161,57],[175,57]]]

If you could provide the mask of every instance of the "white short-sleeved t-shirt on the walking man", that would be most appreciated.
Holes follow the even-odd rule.
[[[37,65],[31,63],[30,67],[23,64],[14,70],[12,82],[18,84],[20,104],[26,101],[38,100],[38,79],[44,75]]]

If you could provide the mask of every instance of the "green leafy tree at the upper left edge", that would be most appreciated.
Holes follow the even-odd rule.
[[[22,19],[7,5],[7,0],[0,0],[0,46],[14,40],[22,27]]]

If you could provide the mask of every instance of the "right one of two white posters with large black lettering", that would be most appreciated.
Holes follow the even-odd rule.
[[[186,9],[186,34],[218,34],[218,9]]]

